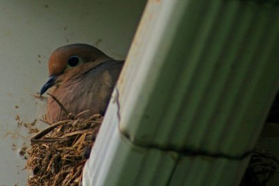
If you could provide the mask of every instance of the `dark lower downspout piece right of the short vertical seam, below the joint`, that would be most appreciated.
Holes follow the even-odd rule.
[[[240,170],[243,170],[248,160],[248,157],[242,161],[204,156],[181,157],[169,186],[239,185],[243,176]]]

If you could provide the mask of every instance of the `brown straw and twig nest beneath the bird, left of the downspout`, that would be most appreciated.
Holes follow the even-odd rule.
[[[59,121],[31,139],[29,185],[80,185],[103,116]]]

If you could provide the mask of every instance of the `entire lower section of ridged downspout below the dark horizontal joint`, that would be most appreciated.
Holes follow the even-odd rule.
[[[117,125],[112,125],[117,120],[116,102],[110,104],[109,109],[114,115],[107,116],[104,121],[107,125],[101,127],[91,158],[85,165],[83,185],[229,186],[239,183],[249,157],[228,160],[206,155],[183,156],[134,146],[123,137]]]

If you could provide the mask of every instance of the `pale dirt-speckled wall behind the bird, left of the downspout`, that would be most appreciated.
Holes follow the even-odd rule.
[[[0,3],[0,185],[25,185],[18,154],[33,134],[17,126],[41,118],[34,98],[47,79],[47,59],[62,45],[84,42],[125,59],[145,1],[10,1]],[[16,108],[18,107],[18,108]],[[37,127],[45,127],[36,123]]]

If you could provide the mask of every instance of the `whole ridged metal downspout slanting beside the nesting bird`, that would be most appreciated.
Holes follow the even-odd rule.
[[[84,185],[238,185],[279,83],[279,11],[149,1]]]

